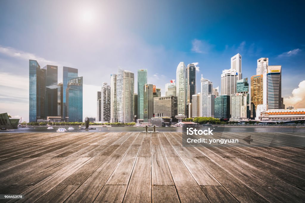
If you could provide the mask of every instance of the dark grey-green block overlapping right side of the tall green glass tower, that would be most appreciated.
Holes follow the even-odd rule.
[[[153,116],[153,98],[154,93],[156,95],[156,86],[152,84],[145,84],[143,88],[143,116],[144,122],[148,123]]]

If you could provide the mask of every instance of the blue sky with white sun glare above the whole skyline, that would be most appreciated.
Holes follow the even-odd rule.
[[[62,66],[78,68],[84,116],[95,116],[95,92],[118,67],[147,68],[164,94],[179,62],[198,62],[199,92],[201,74],[220,86],[237,53],[243,77],[256,73],[261,57],[282,65],[286,103],[304,108],[303,8],[302,1],[0,0],[0,112],[28,120],[29,59],[58,65],[59,81]]]

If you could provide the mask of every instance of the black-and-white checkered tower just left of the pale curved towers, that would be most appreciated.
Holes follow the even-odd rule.
[[[111,114],[111,97],[110,86],[107,83],[103,83],[101,90],[101,121],[110,121]]]

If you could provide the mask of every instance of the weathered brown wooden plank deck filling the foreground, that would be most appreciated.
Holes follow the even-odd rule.
[[[26,202],[305,200],[305,148],[181,142],[174,132],[0,134],[0,194]]]

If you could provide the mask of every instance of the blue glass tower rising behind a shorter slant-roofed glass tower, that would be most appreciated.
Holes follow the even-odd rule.
[[[78,69],[63,66],[63,120],[66,120],[66,89],[71,79],[78,77]]]

